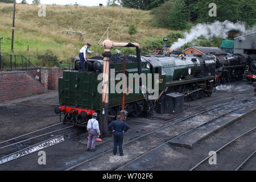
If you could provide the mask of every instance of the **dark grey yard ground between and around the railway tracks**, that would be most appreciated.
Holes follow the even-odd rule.
[[[154,131],[160,126],[164,126],[166,123],[164,119],[170,118],[179,118],[185,117],[192,113],[203,111],[207,107],[214,106],[216,104],[225,103],[228,101],[233,101],[237,99],[245,100],[256,100],[253,92],[253,86],[250,82],[232,82],[229,84],[221,85],[217,88],[216,92],[212,94],[211,97],[203,98],[201,100],[191,101],[189,105],[185,104],[185,109],[183,113],[177,115],[168,115],[168,114],[155,114],[154,119],[148,118],[128,118],[127,123],[131,126],[131,129],[125,135],[125,141],[127,142],[130,139],[137,138],[145,133]],[[0,142],[6,139],[16,137],[21,134],[26,134],[28,132],[41,129],[43,127],[53,125],[59,122],[59,115],[54,113],[54,107],[59,105],[58,94],[56,91],[49,91],[48,93],[41,94],[38,96],[32,96],[27,98],[21,98],[19,100],[7,101],[5,103],[0,103]],[[216,150],[219,146],[229,141],[230,139],[241,134],[243,131],[249,127],[255,127],[255,113],[248,115],[246,118],[241,121],[237,121],[233,125],[226,127],[226,129],[221,130],[220,132],[211,135],[202,142],[196,144],[193,149],[171,146],[170,144],[164,145],[159,150],[150,152],[147,155],[144,155],[142,158],[135,160],[133,163],[127,165],[126,170],[188,170],[197,162],[200,162],[202,158],[208,155],[210,150]],[[178,126],[177,126],[178,127]],[[146,129],[142,131],[142,129]],[[175,130],[179,130],[178,128]],[[47,164],[39,165],[38,164],[38,152],[34,152],[30,155],[26,155],[22,158],[15,159],[9,163],[0,165],[0,170],[64,170],[73,164],[79,163],[83,160],[90,159],[93,156],[101,154],[102,152],[111,150],[113,147],[112,137],[104,138],[103,142],[97,142],[98,150],[96,152],[87,152],[86,151],[86,142],[87,134],[84,130],[80,130],[76,134],[65,142],[56,144],[45,148],[44,151],[47,155]],[[160,137],[154,135],[155,138]],[[152,136],[152,139],[154,139]],[[252,138],[253,139],[253,138]],[[253,140],[250,137],[243,138],[245,140],[245,148],[254,148]],[[254,140],[255,141],[255,140]],[[138,144],[138,143],[137,143]],[[149,146],[149,143],[143,142],[139,145]],[[238,143],[237,146],[230,149],[231,151],[237,150],[240,146]],[[130,146],[131,148],[136,146]],[[125,152],[129,151],[124,147]],[[255,148],[254,148],[255,150]],[[143,150],[140,151],[143,154]],[[225,151],[224,151],[225,152]],[[228,152],[228,151],[226,151]],[[242,156],[247,155],[246,150],[241,150],[240,160]],[[223,153],[225,154],[225,153]],[[224,167],[223,164],[236,163],[230,162],[230,160],[236,159],[236,154],[229,156],[225,162],[221,162],[221,158],[225,158],[223,155],[220,156],[218,164],[221,167],[216,168],[216,166],[202,166],[199,169],[202,170],[214,170],[214,169],[230,169],[229,167]],[[221,153],[220,153],[221,155]],[[125,156],[109,156],[109,159],[113,160],[110,162],[117,162],[118,160],[129,160],[129,155],[125,153]],[[101,164],[98,166],[108,166],[109,161],[100,161]],[[251,165],[251,167],[249,166]],[[245,166],[244,169],[255,170],[255,157],[253,160],[248,163],[248,166]],[[81,168],[86,170],[86,168]],[[95,170],[99,168],[94,168]],[[108,169],[107,169],[108,170]]]

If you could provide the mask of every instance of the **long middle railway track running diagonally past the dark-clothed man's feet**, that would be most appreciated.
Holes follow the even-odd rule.
[[[149,133],[147,133],[147,134],[144,134],[144,135],[141,135],[141,136],[139,136],[139,137],[135,137],[134,139],[129,140],[128,142],[124,143],[123,146],[131,146],[131,143],[136,143],[136,142],[138,142],[138,143],[143,143],[143,142],[145,142],[145,141],[143,141],[143,139],[146,140],[147,142],[149,141],[149,142],[147,143],[147,145],[142,146],[142,147],[144,147],[144,151],[146,151],[146,152],[143,152],[142,155],[141,155],[141,154],[139,154],[139,155],[138,155],[138,154],[135,154],[135,155],[133,155],[133,159],[132,159],[132,160],[127,160],[127,162],[126,162],[125,164],[119,164],[119,166],[113,167],[113,168],[111,168],[110,170],[118,170],[118,169],[121,169],[121,168],[127,166],[127,164],[130,164],[130,163],[134,162],[135,160],[138,160],[139,158],[142,158],[142,156],[144,156],[144,155],[146,155],[146,154],[148,154],[148,153],[150,153],[150,152],[156,150],[157,148],[163,146],[164,144],[170,142],[170,140],[172,140],[172,139],[174,139],[174,138],[176,138],[176,137],[179,137],[180,135],[183,135],[183,134],[185,134],[185,133],[188,133],[188,132],[190,132],[190,131],[192,131],[192,130],[195,130],[195,129],[197,129],[198,127],[203,126],[203,125],[205,125],[205,124],[207,124],[207,123],[209,123],[209,122],[212,122],[212,121],[214,121],[214,120],[216,120],[216,119],[218,119],[218,118],[221,118],[221,117],[223,117],[223,116],[226,115],[226,114],[232,113],[232,112],[235,111],[235,110],[241,109],[241,107],[247,106],[247,105],[245,104],[245,105],[242,105],[241,107],[236,107],[236,109],[232,109],[232,110],[230,110],[230,111],[228,111],[228,112],[226,112],[226,113],[224,113],[224,114],[222,113],[222,114],[218,115],[217,117],[214,117],[214,118],[209,119],[207,122],[202,123],[201,125],[197,125],[196,127],[192,127],[191,129],[188,129],[188,130],[186,130],[185,132],[183,132],[183,133],[181,133],[181,134],[174,135],[174,136],[172,136],[171,138],[170,138],[170,136],[168,136],[168,135],[167,135],[167,136],[163,136],[163,137],[159,137],[159,136],[160,136],[159,134],[161,134],[161,130],[168,130],[170,126],[177,125],[178,123],[181,125],[182,122],[183,122],[183,124],[184,124],[184,122],[188,121],[188,119],[197,117],[197,116],[202,115],[202,114],[208,115],[210,112],[214,112],[214,110],[216,111],[217,109],[218,109],[218,110],[221,110],[221,107],[226,106],[226,105],[231,104],[231,103],[232,103],[232,101],[231,101],[231,102],[226,102],[225,104],[218,105],[218,106],[216,106],[216,107],[213,107],[213,108],[211,108],[211,109],[207,109],[207,110],[204,110],[204,111],[200,111],[199,113],[193,114],[193,115],[191,115],[191,116],[189,116],[189,117],[185,117],[185,118],[181,118],[181,119],[175,119],[175,120],[172,121],[171,123],[168,123],[168,124],[164,125],[163,127],[160,127],[159,129],[155,129],[154,131],[151,131],[151,132],[149,132]],[[250,104],[253,104],[253,103],[254,103],[254,102],[251,102]],[[248,105],[250,105],[250,104],[248,104]],[[171,120],[171,119],[170,119],[170,120]],[[167,121],[168,121],[168,120],[167,120]],[[158,136],[158,137],[155,137],[155,140],[152,141],[152,138],[154,138],[154,135],[155,135],[155,136]],[[139,141],[140,139],[142,139],[142,141]],[[151,142],[151,141],[152,141],[152,142]],[[160,144],[159,144],[159,143],[160,143]],[[151,146],[151,147],[150,147],[150,146]],[[147,148],[147,147],[148,147],[148,148]],[[132,151],[133,151],[133,150],[132,150]],[[132,151],[131,151],[131,152],[132,152]],[[93,158],[90,158],[90,159],[84,160],[84,161],[82,161],[82,162],[80,162],[80,163],[77,163],[77,164],[75,164],[75,165],[73,165],[73,166],[67,168],[66,171],[74,170],[74,169],[79,169],[79,168],[83,169],[82,166],[86,166],[86,164],[89,165],[89,163],[92,162],[92,160],[94,160],[93,163],[95,163],[95,160],[98,160],[99,158],[104,158],[105,160],[104,160],[104,159],[103,159],[103,160],[106,161],[106,160],[108,160],[108,156],[111,156],[112,154],[109,154],[109,155],[105,155],[105,154],[108,154],[108,153],[110,153],[110,152],[112,152],[112,149],[107,150],[107,151],[103,152],[102,154],[96,155],[96,156],[94,156]],[[130,152],[127,152],[127,153],[130,153]],[[134,156],[135,156],[135,158],[134,158]],[[84,168],[85,168],[85,167],[84,167]],[[86,169],[87,169],[87,168],[86,168]],[[105,169],[106,169],[106,168],[105,168]],[[101,170],[101,169],[100,169],[100,170]]]

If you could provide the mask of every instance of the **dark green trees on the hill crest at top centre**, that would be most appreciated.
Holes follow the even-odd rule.
[[[168,0],[118,0],[122,7],[151,10]]]

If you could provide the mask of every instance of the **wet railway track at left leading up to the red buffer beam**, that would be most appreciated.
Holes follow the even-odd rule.
[[[63,125],[62,123],[58,123],[52,126],[45,127],[40,130],[33,131],[28,134],[20,135],[15,138],[11,138],[9,140],[5,140],[0,144],[0,165],[10,162],[11,160],[20,158],[21,156],[25,156],[31,154],[32,152],[38,151],[42,148],[46,148],[52,146],[53,144],[62,142],[64,140],[64,135],[70,133],[73,126],[61,127],[60,129],[55,129],[51,131],[47,131],[47,133],[34,135],[36,133],[40,133],[40,131],[46,131],[48,129],[53,129],[56,126]],[[64,131],[68,130],[68,131]],[[64,133],[61,133],[64,131]],[[32,135],[30,137],[30,135]],[[28,137],[28,138],[24,138]],[[61,139],[62,138],[62,139]]]

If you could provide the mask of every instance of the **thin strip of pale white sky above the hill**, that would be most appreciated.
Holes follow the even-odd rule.
[[[27,3],[31,4],[33,0],[26,0]],[[77,2],[77,4],[82,6],[98,6],[100,3],[103,4],[103,6],[106,6],[107,0],[40,0],[41,4],[44,5],[73,5]],[[22,0],[16,0],[16,3],[20,3]]]

